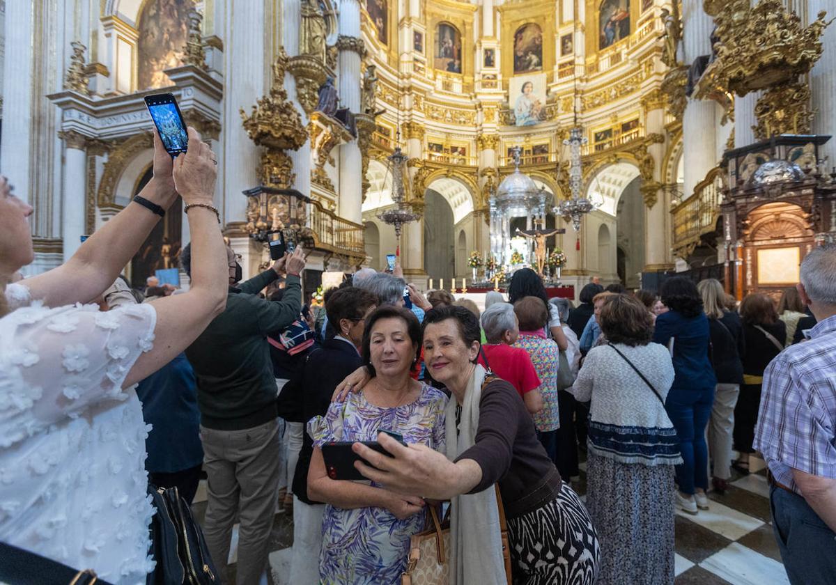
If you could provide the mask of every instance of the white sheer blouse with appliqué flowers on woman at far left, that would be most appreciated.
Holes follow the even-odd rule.
[[[0,318],[0,541],[115,583],[145,583],[150,430],[125,376],[152,306],[46,308],[9,285]]]

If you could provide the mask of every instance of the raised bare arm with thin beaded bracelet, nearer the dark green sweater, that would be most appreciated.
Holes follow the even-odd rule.
[[[153,303],[157,313],[153,348],[142,354],[130,369],[125,386],[139,382],[174,359],[226,307],[229,282],[226,246],[215,211],[203,207],[212,206],[217,176],[215,160],[197,131],[189,128],[188,151],[175,160],[174,181],[188,208],[191,287],[187,293]],[[145,209],[139,211],[151,215]]]

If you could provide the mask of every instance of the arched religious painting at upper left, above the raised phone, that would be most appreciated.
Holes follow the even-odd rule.
[[[183,64],[191,8],[195,8],[192,0],[152,0],[145,4],[139,19],[137,47],[139,89],[172,85],[163,71]]]

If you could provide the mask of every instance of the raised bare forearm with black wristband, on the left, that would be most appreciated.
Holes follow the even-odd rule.
[[[209,164],[212,165],[211,162]],[[167,210],[177,198],[171,172],[171,155],[154,130],[154,176],[140,196]],[[213,184],[214,177],[215,169],[212,169]],[[208,202],[212,203],[211,196]],[[131,202],[96,230],[63,265],[28,278],[26,286],[32,297],[43,299],[48,307],[89,303],[99,298],[134,257],[160,219],[139,203]]]

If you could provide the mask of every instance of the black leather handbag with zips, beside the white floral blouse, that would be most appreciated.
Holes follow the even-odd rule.
[[[156,513],[151,519],[151,548],[156,561],[148,585],[217,585],[221,582],[201,527],[176,487],[148,486]]]

